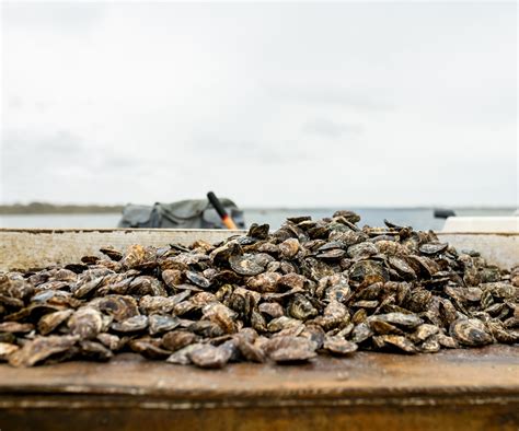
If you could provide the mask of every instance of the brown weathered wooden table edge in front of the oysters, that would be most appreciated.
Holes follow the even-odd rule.
[[[37,426],[37,427],[36,427]],[[358,352],[205,371],[122,354],[0,365],[0,428],[517,430],[519,348]]]

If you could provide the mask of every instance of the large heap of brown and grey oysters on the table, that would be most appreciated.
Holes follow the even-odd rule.
[[[432,232],[359,220],[296,217],[217,245],[106,247],[65,267],[0,273],[0,359],[31,366],[132,351],[221,368],[519,341],[519,267],[487,265]]]

